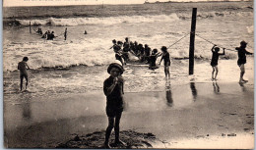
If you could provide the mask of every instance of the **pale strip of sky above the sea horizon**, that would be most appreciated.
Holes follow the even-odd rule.
[[[166,2],[168,0],[148,0],[148,2],[156,2],[156,1]],[[192,0],[171,0],[171,1],[192,1]],[[205,1],[205,0],[196,0],[196,1]],[[12,6],[143,4],[144,2],[145,0],[3,0],[3,6],[12,7]]]

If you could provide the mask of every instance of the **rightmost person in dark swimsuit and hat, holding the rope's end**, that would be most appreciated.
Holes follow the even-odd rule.
[[[238,51],[238,60],[237,60],[237,65],[240,68],[240,78],[239,82],[246,82],[248,80],[243,79],[243,75],[245,74],[245,67],[244,65],[246,64],[246,55],[252,55],[253,53],[250,53],[246,51],[246,46],[247,43],[245,41],[240,42],[240,47],[236,47],[235,49]]]

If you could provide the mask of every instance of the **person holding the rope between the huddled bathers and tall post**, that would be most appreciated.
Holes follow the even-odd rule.
[[[169,75],[169,66],[170,66],[170,58],[169,58],[169,53],[167,52],[167,48],[165,46],[162,46],[160,48],[161,52],[162,52],[162,56],[160,58],[160,63],[163,60],[164,63],[164,74],[165,74],[165,78],[170,78]]]

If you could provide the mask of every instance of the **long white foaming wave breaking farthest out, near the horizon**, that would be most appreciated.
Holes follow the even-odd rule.
[[[197,19],[212,19],[216,17],[247,17],[253,16],[253,12],[198,12]],[[191,20],[191,14],[172,13],[170,15],[145,15],[145,16],[118,16],[103,18],[73,17],[73,18],[47,18],[33,20],[15,20],[13,23],[8,21],[4,25],[55,25],[55,26],[75,26],[75,25],[114,25],[114,24],[141,24],[156,22],[174,22],[179,20]]]

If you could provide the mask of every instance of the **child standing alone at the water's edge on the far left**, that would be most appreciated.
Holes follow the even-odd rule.
[[[20,84],[21,91],[23,90],[23,79],[24,78],[26,79],[26,89],[29,84],[29,77],[28,77],[27,69],[30,70],[30,67],[27,64],[28,61],[29,61],[29,58],[24,57],[23,61],[18,64],[18,70],[20,70],[20,79],[21,79],[21,84]]]

